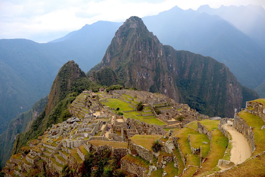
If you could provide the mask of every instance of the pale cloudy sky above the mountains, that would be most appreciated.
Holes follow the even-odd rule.
[[[262,5],[265,0],[0,0],[0,39],[48,42],[98,20],[121,22],[130,16],[156,15],[174,6]]]

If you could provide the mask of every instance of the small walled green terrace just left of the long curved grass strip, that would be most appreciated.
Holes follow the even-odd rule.
[[[191,140],[191,145],[193,148],[200,148],[202,146],[202,158],[207,157],[209,150],[210,150],[210,140],[205,134],[200,135],[189,135]],[[207,142],[208,144],[202,143],[203,141]]]

